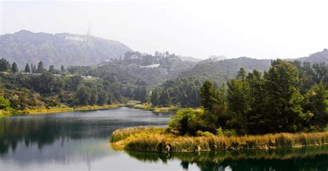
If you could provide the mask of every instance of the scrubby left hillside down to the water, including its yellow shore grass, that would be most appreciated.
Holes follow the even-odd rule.
[[[12,68],[0,60],[1,114],[102,109],[128,99],[116,81],[71,75],[64,67],[46,70],[42,61],[21,72]]]

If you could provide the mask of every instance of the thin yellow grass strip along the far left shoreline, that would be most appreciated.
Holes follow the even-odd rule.
[[[17,114],[39,114],[39,113],[55,113],[55,112],[74,112],[81,110],[104,110],[109,108],[118,108],[118,105],[85,105],[74,108],[62,107],[62,108],[37,108],[17,110]]]

